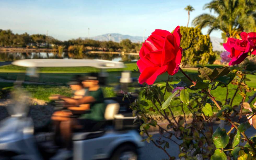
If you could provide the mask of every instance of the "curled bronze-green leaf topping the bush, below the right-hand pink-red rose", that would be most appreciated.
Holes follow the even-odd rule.
[[[224,75],[229,74],[230,69],[229,67],[220,67],[220,68],[207,68],[207,67],[201,67],[197,70],[198,76],[203,80],[209,80],[209,81],[217,81],[222,82],[224,84],[228,83],[230,80],[230,77]]]

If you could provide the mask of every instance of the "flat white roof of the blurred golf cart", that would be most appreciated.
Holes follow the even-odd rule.
[[[11,64],[22,67],[95,67],[95,68],[124,68],[123,62],[91,59],[24,59]]]

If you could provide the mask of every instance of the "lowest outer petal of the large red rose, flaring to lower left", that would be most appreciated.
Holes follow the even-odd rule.
[[[144,82],[146,82],[148,85],[152,85],[155,82],[158,75],[166,72],[166,68],[167,66],[147,67],[139,76],[139,83],[143,84]]]

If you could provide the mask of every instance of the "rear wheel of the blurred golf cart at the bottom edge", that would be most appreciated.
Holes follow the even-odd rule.
[[[114,151],[110,160],[137,160],[138,153],[133,145],[123,145]]]

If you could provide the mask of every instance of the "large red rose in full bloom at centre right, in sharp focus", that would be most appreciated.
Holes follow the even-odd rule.
[[[182,58],[181,37],[179,26],[173,34],[167,30],[156,29],[148,37],[139,51],[141,59],[137,61],[141,72],[140,84],[146,82],[151,85],[158,75],[166,71],[170,75],[178,72]]]

